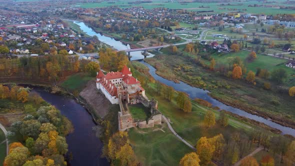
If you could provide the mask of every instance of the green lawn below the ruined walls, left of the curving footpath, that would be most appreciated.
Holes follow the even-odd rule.
[[[185,153],[192,151],[172,134],[166,124],[163,131],[152,129],[130,128],[128,131],[134,153],[142,165],[177,165]]]

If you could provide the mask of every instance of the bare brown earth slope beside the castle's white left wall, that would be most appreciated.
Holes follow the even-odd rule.
[[[86,87],[80,92],[88,104],[90,104],[95,113],[103,118],[108,111],[108,107],[111,104],[96,88],[95,80],[89,80],[86,84]]]

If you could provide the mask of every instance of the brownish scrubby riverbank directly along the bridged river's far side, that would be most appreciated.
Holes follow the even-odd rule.
[[[160,75],[161,77],[165,79],[172,80],[177,83],[179,83],[178,80],[181,80],[182,82],[185,82],[189,84],[190,86],[194,86],[198,88],[207,87],[209,88],[209,90],[211,90],[211,92],[208,93],[209,96],[228,106],[242,109],[248,113],[261,116],[263,118],[269,119],[283,126],[295,128],[295,121],[287,118],[286,116],[281,116],[281,114],[278,114],[277,112],[271,113],[269,112],[268,109],[261,110],[262,109],[261,104],[265,103],[265,101],[260,99],[260,98],[263,98],[261,96],[259,100],[257,99],[258,97],[257,98],[253,97],[253,94],[257,93],[257,91],[255,91],[256,87],[252,85],[248,85],[238,80],[232,81],[232,80],[221,78],[218,75],[210,73],[210,71],[206,71],[205,69],[202,69],[200,66],[195,66],[195,64],[192,64],[190,61],[188,61],[184,57],[177,56],[177,55],[157,55],[157,56],[154,56],[153,58],[144,59],[144,61],[149,63],[153,67],[155,67],[157,69],[155,71],[156,74]],[[178,65],[178,68],[176,67],[177,65]],[[184,67],[184,65],[187,66],[187,69]],[[197,69],[194,69],[194,72],[193,72],[192,68],[194,67],[197,67]],[[192,73],[196,73],[196,74],[192,74]],[[185,74],[188,74],[189,76]],[[202,77],[203,79],[200,78],[195,81],[191,79],[192,76],[199,76],[199,77]],[[237,81],[238,83],[241,83],[241,84],[238,85],[238,83],[236,83]],[[243,90],[242,95],[238,93],[239,91],[241,91],[241,88],[246,89],[246,90]],[[251,91],[251,93],[249,93],[248,91]],[[264,89],[259,89],[259,94],[260,95],[265,94],[265,97],[268,96],[266,98],[269,98],[269,95],[271,95],[272,93]],[[282,95],[280,95],[280,97],[281,96]],[[278,98],[278,96],[275,98]],[[243,100],[243,102],[240,101],[241,99]],[[269,101],[271,101],[271,99],[269,99],[268,102]],[[285,100],[283,99],[280,102],[283,102],[283,101]],[[254,105],[255,103],[257,103],[258,106]],[[289,105],[289,103],[292,103],[292,102],[288,102],[285,104]],[[273,103],[269,103],[269,104],[273,104]],[[277,106],[278,105],[274,105],[274,109]],[[284,114],[286,113],[284,112]]]

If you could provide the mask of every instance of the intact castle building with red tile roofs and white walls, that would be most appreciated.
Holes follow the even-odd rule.
[[[96,75],[96,87],[112,104],[118,104],[119,98],[127,103],[138,103],[140,102],[139,95],[147,99],[145,90],[141,87],[140,82],[132,76],[130,68],[126,65],[120,72],[111,71],[104,74],[99,70]]]

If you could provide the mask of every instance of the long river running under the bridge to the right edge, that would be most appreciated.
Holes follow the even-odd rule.
[[[80,22],[80,21],[73,21],[73,22],[75,24],[79,25],[81,30],[83,30],[88,35],[90,35],[90,36],[96,35],[100,41],[105,42],[108,45],[113,46],[115,49],[123,50],[123,49],[129,49],[130,48],[129,45],[124,45],[120,41],[116,41],[111,37],[107,37],[107,36],[101,35],[99,33],[96,33],[95,31],[93,31],[93,29],[88,27],[83,22]],[[131,52],[131,53],[133,53],[133,52]],[[133,59],[131,58],[131,60],[142,59],[143,55],[140,54],[142,56],[141,57],[140,55],[138,55],[138,53],[140,54],[141,52],[140,51],[134,52],[134,57],[132,57]],[[265,118],[263,118],[261,116],[253,115],[253,114],[250,114],[250,113],[248,113],[248,112],[246,112],[244,110],[234,108],[232,106],[228,106],[228,105],[226,105],[226,104],[224,104],[224,103],[210,97],[208,95],[209,91],[207,91],[207,90],[203,90],[203,89],[197,88],[197,87],[192,87],[192,86],[190,86],[190,85],[188,85],[188,84],[186,84],[184,82],[181,82],[181,81],[180,81],[180,83],[174,83],[173,81],[167,80],[167,79],[157,75],[155,73],[155,68],[153,66],[149,65],[148,63],[146,63],[144,61],[141,61],[141,63],[145,64],[149,68],[150,74],[156,80],[159,80],[160,82],[162,82],[162,83],[164,83],[164,84],[166,84],[168,86],[172,86],[175,90],[183,91],[183,92],[188,93],[190,98],[197,97],[197,98],[204,99],[204,100],[212,103],[213,106],[218,106],[219,108],[225,109],[225,110],[230,111],[232,113],[235,113],[235,114],[238,114],[238,115],[241,115],[241,116],[244,116],[244,117],[256,120],[256,121],[259,121],[259,122],[263,122],[264,124],[269,125],[270,127],[281,130],[282,134],[290,134],[290,135],[295,136],[295,129],[293,129],[293,128],[282,126],[282,125],[280,125],[278,123],[272,122],[271,120],[265,119]]]

